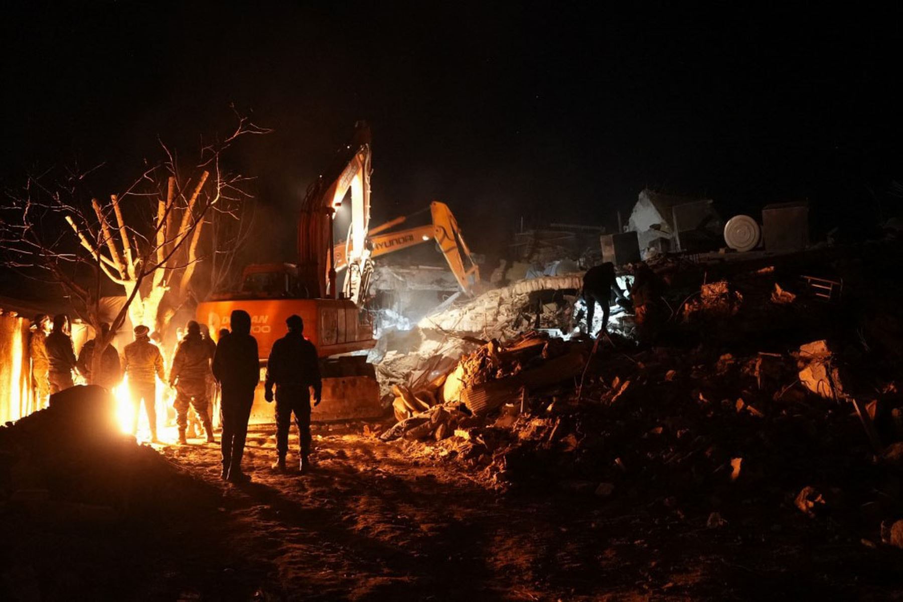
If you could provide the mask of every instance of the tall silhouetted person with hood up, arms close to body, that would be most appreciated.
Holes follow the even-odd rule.
[[[222,422],[222,477],[240,483],[247,481],[241,470],[245,453],[247,421],[254,404],[254,389],[260,381],[257,340],[251,336],[251,317],[247,311],[234,310],[230,318],[232,332],[220,337],[213,357],[213,375],[222,388],[219,415]]]

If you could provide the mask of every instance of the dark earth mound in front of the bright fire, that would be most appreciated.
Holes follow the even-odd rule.
[[[0,428],[4,511],[109,523],[177,512],[209,497],[182,469],[123,435],[115,416],[105,389],[76,386],[52,395],[47,409]]]

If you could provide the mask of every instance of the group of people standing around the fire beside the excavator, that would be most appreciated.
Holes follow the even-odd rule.
[[[70,337],[68,318],[55,316],[51,320],[39,315],[33,320],[30,343],[35,393],[46,403],[48,395],[74,385],[73,374],[79,374],[90,384],[112,389],[128,378],[129,394],[134,404],[133,433],[138,430],[140,406],[150,426],[151,440],[157,439],[156,379],[168,383],[176,391],[173,408],[179,427],[179,442],[187,443],[189,410],[194,408],[200,418],[208,442],[215,442],[210,420],[212,382],[219,384],[222,434],[222,477],[233,482],[247,480],[241,469],[247,438],[247,423],[254,391],[260,380],[257,341],[251,335],[251,317],[244,310],[230,316],[230,329],[219,331],[219,342],[209,337],[209,331],[191,320],[186,325],[172,357],[169,375],[165,373],[163,354],[152,340],[150,329],[135,327],[135,341],[126,345],[120,358],[116,347],[107,345],[98,366],[94,352],[97,339],[91,339],[76,357]],[[311,452],[311,390],[313,404],[321,400],[320,365],[316,347],[303,337],[304,322],[299,316],[285,320],[287,333],[277,340],[267,362],[265,400],[275,400],[276,452],[274,468],[285,470],[288,453],[288,431],[294,416],[301,439],[302,472],[310,468]],[[107,338],[109,325],[101,325],[101,336]],[[94,372],[97,370],[97,372]],[[275,389],[275,392],[274,392]]]

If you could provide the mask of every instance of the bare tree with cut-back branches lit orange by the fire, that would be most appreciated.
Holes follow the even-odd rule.
[[[224,154],[240,137],[269,131],[238,116],[235,130],[202,143],[188,168],[161,143],[163,160],[145,164],[126,190],[108,199],[88,190],[88,176],[98,168],[45,171],[29,176],[22,189],[6,191],[0,208],[4,262],[42,273],[70,297],[97,333],[92,374],[98,374],[103,351],[126,315],[134,325],[165,331],[175,311],[191,300],[197,265],[218,253],[228,257],[247,238],[247,227],[219,226],[219,236],[234,236],[209,243],[209,254],[201,253],[202,238],[214,231],[211,220],[240,222],[248,214],[248,179],[223,167]],[[100,329],[104,281],[121,286],[126,299],[106,338]]]

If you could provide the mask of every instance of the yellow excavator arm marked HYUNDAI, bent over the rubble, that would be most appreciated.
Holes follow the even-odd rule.
[[[404,230],[394,230],[395,227],[401,226],[418,213],[426,210],[430,211],[433,223]],[[455,280],[461,286],[461,291],[472,295],[474,287],[479,283],[479,266],[473,263],[473,259],[470,257],[470,248],[464,242],[463,236],[461,236],[458,220],[454,218],[452,209],[445,203],[434,200],[428,208],[421,209],[421,211],[417,211],[411,216],[395,218],[382,226],[372,228],[369,231],[366,245],[370,258],[375,259],[380,255],[395,253],[431,240],[436,242],[439,250],[442,251],[442,255],[445,255],[445,261],[448,262]],[[337,271],[344,270],[347,267],[348,262],[346,258],[349,256],[351,249],[349,243],[353,242],[351,236],[349,236],[348,240],[333,247],[332,255],[336,258],[335,267]]]

